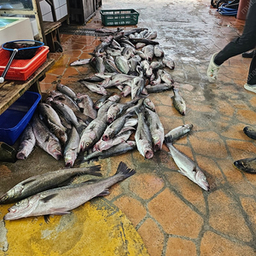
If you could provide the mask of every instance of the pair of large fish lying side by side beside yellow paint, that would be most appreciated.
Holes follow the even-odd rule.
[[[100,195],[108,195],[108,188],[113,184],[131,177],[136,172],[120,162],[117,172],[112,177],[88,180],[83,183],[71,183],[61,187],[63,182],[79,174],[101,176],[101,166],[87,168],[68,168],[42,175],[29,177],[18,183],[0,198],[0,203],[18,201],[4,216],[6,220],[44,215],[46,222],[49,215],[63,215]]]

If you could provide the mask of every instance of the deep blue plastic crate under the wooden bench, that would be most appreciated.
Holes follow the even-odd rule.
[[[13,145],[32,119],[41,95],[26,91],[7,110],[0,115],[0,142]]]

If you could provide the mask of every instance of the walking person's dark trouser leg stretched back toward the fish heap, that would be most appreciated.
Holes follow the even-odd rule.
[[[253,49],[256,45],[256,1],[251,0],[250,9],[247,13],[247,20],[240,38],[236,38],[230,44],[227,44],[218,55],[214,62],[221,65],[230,57],[240,55],[241,53]]]

